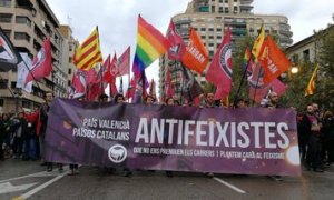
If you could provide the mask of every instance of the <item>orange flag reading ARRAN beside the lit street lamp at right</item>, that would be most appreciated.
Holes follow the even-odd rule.
[[[265,49],[261,60],[264,68],[264,83],[272,82],[291,67],[289,60],[279,50],[273,38],[268,34],[265,41]]]

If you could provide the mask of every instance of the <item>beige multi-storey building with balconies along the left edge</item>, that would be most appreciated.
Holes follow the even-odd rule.
[[[1,72],[0,112],[13,112],[18,107],[35,110],[43,102],[43,93],[53,91],[57,97],[66,97],[68,70],[62,49],[67,46],[59,31],[59,21],[46,0],[0,0],[0,24],[19,52],[31,58],[37,54],[46,37],[51,39],[52,73],[33,82],[32,93],[16,88],[17,71]]]

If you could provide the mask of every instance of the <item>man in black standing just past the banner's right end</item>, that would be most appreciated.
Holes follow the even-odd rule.
[[[320,119],[314,114],[312,104],[307,106],[306,114],[301,122],[301,131],[307,137],[306,168],[315,172],[324,172],[321,169],[321,124]]]

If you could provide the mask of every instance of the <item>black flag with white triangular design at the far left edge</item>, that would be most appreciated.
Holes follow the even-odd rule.
[[[20,61],[21,56],[0,28],[0,71],[16,69]]]

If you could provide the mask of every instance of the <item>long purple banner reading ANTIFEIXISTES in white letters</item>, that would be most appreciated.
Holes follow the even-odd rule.
[[[297,141],[292,109],[55,99],[45,159],[130,169],[299,176]]]

